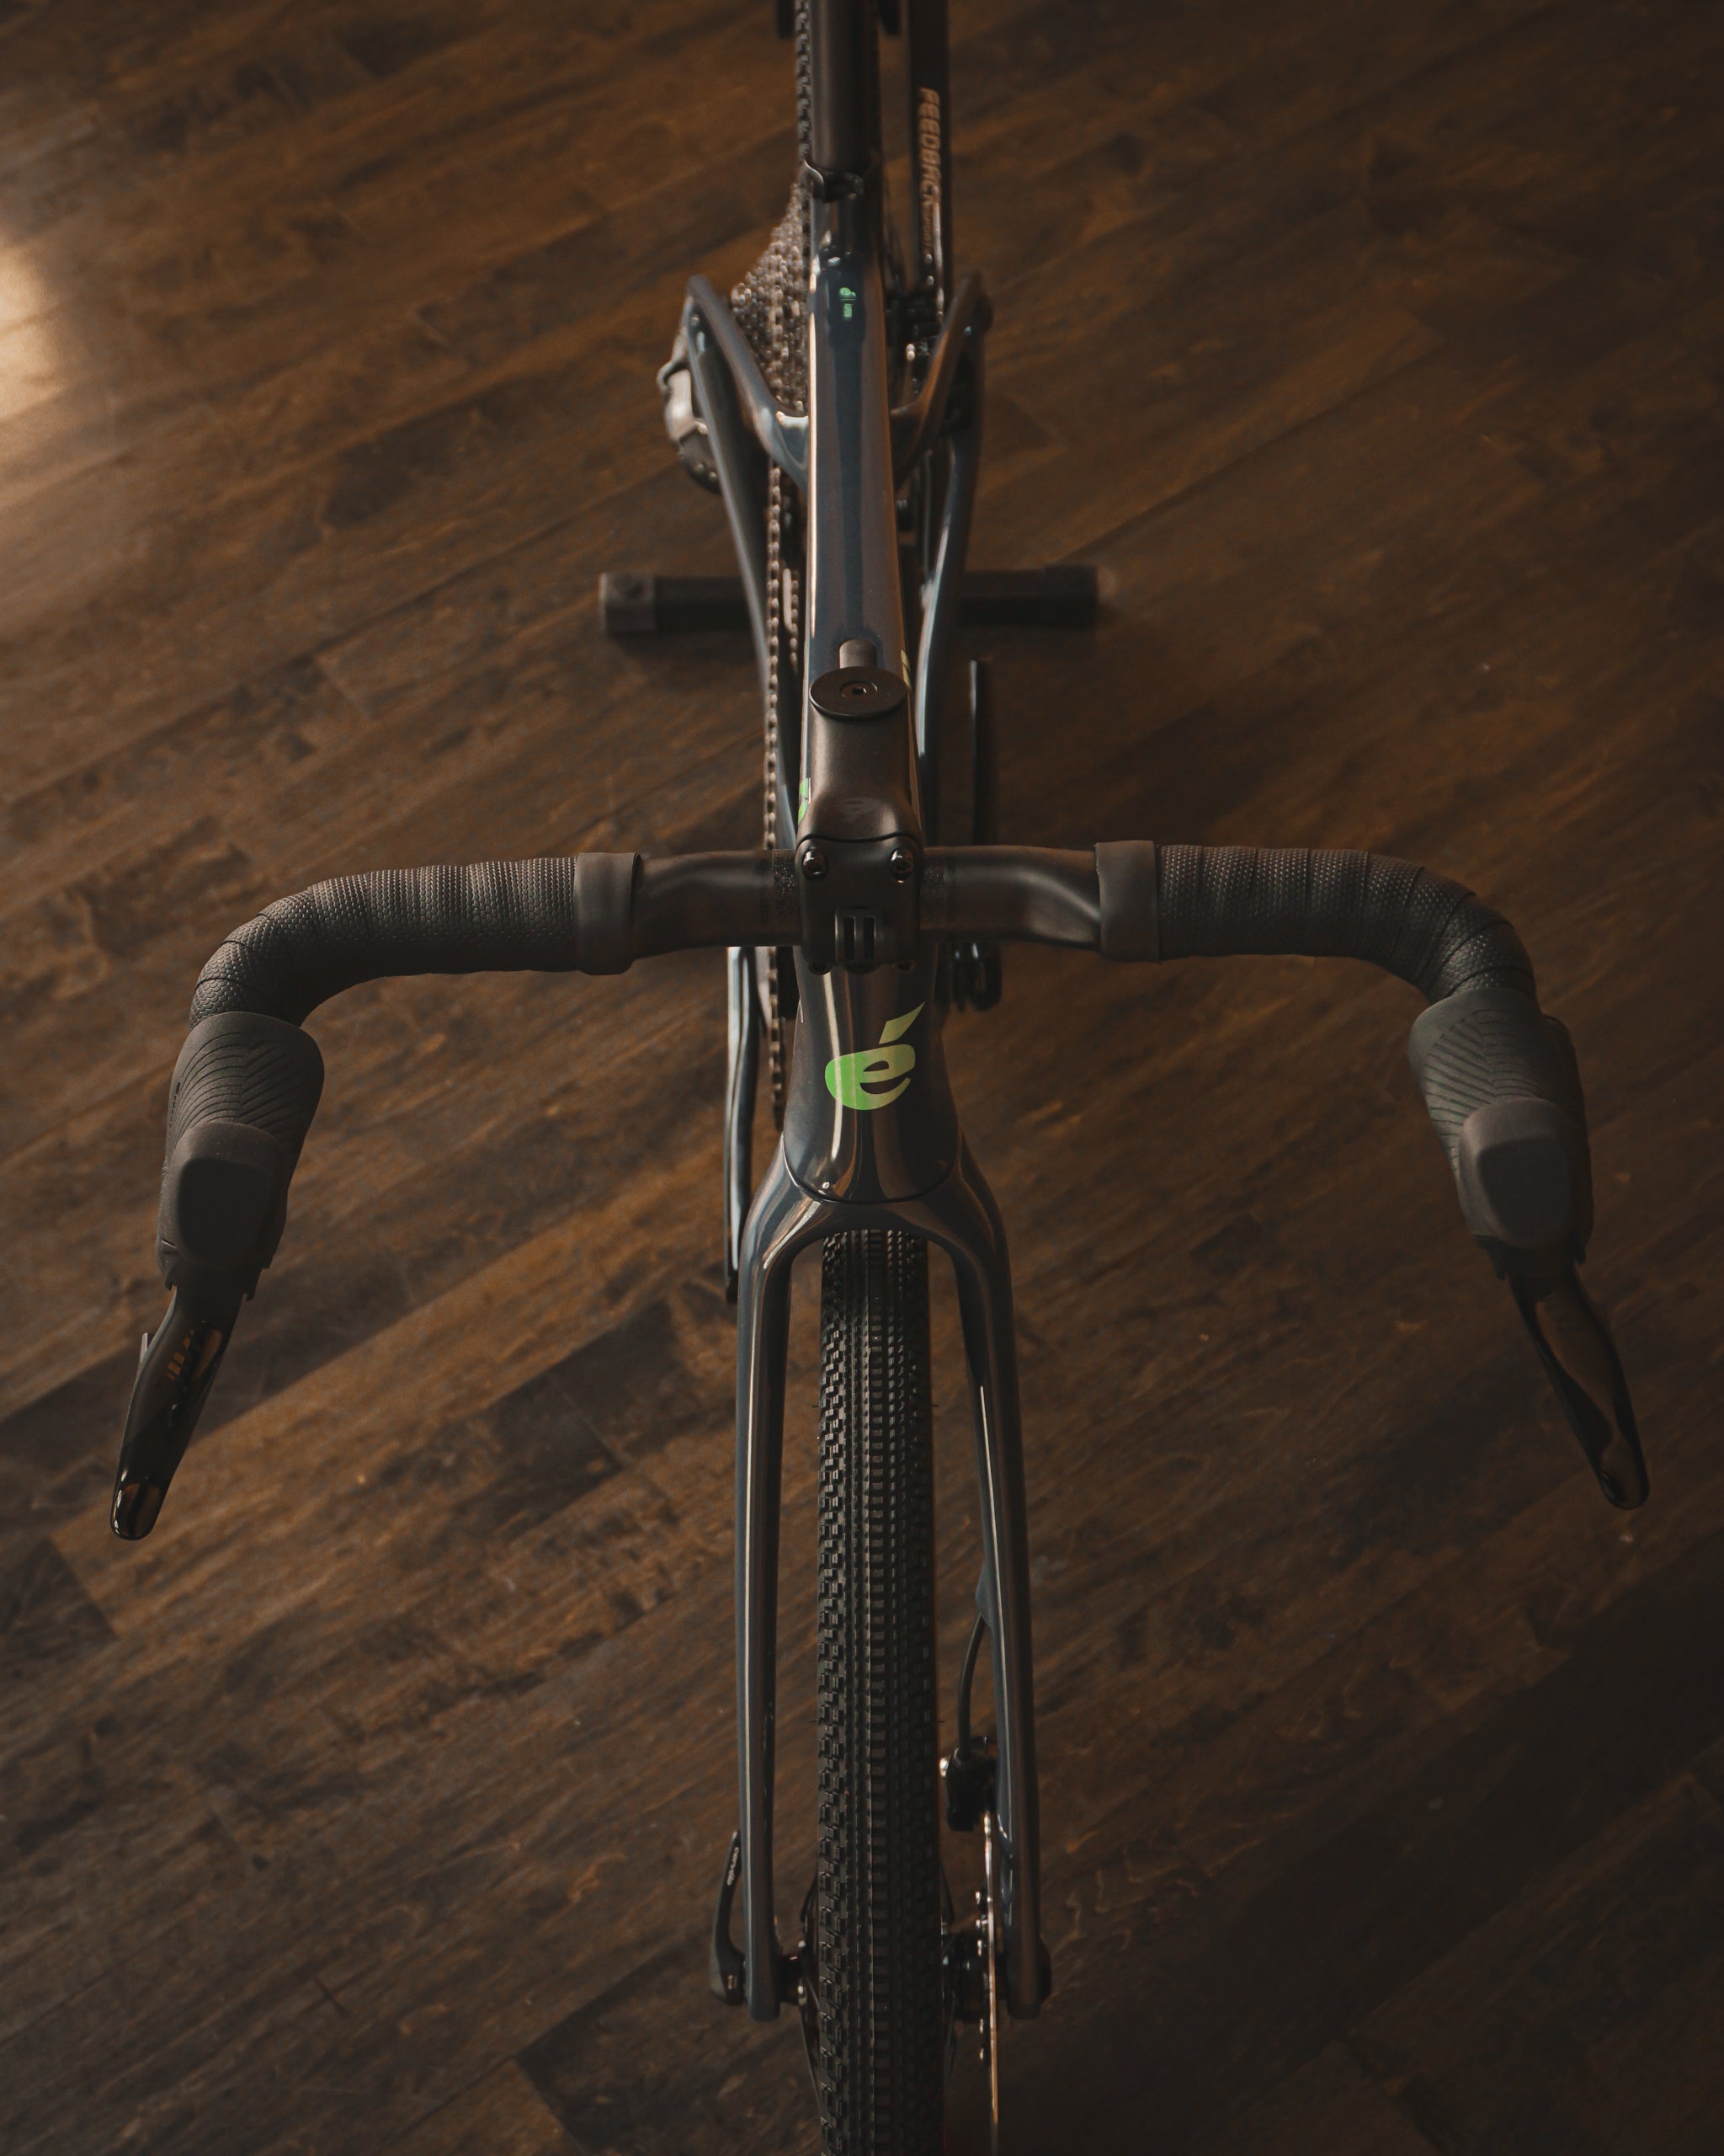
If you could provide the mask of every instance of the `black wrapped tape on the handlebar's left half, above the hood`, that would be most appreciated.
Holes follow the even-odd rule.
[[[636,854],[483,860],[338,875],[278,899],[220,946],[192,1022],[256,1011],[302,1024],[360,981],[407,972],[625,972]]]

